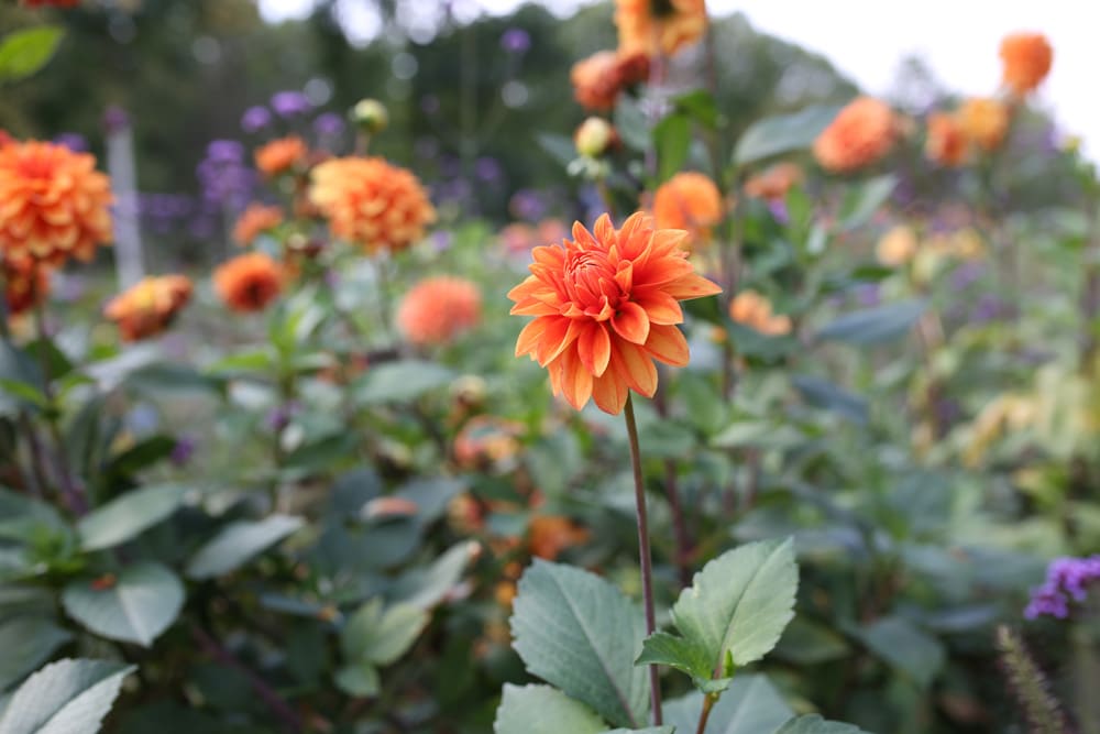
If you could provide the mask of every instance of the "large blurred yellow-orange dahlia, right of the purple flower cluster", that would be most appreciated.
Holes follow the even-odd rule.
[[[420,180],[383,158],[332,158],[314,168],[310,198],[332,233],[370,251],[400,250],[424,237],[436,209]]]

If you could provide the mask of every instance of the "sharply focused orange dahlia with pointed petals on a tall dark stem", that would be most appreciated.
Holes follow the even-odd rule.
[[[678,302],[721,291],[688,261],[686,238],[654,229],[640,212],[619,230],[603,215],[594,232],[576,222],[572,240],[535,248],[531,274],[508,293],[513,314],[536,317],[519,333],[516,355],[547,368],[554,394],[576,409],[592,397],[605,413],[619,413],[628,390],[651,397],[654,359],[688,364]]]

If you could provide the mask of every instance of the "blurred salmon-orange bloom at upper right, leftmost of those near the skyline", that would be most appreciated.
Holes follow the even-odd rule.
[[[889,153],[895,134],[890,106],[870,97],[858,97],[840,110],[814,141],[814,157],[826,171],[856,171]]]

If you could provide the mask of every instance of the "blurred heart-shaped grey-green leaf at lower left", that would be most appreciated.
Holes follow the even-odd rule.
[[[184,584],[161,563],[142,561],[102,588],[90,578],[69,582],[62,603],[69,616],[97,635],[148,647],[179,614]]]

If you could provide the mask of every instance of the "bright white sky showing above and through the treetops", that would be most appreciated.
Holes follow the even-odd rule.
[[[569,13],[583,0],[551,0]],[[359,3],[346,2],[349,10]],[[364,3],[365,6],[366,3]],[[507,13],[520,0],[466,0],[491,13]],[[300,18],[311,0],[260,0],[265,18]],[[1054,46],[1054,68],[1036,97],[1059,128],[1079,135],[1094,160],[1100,155],[1100,97],[1097,95],[1097,31],[1100,3],[1093,0],[707,0],[713,14],[743,11],[761,31],[827,56],[871,94],[886,92],[899,62],[916,53],[949,89],[992,94],[1000,80],[1001,37],[1013,31],[1045,33]],[[356,13],[350,13],[354,25]],[[371,20],[364,15],[365,28]]]

